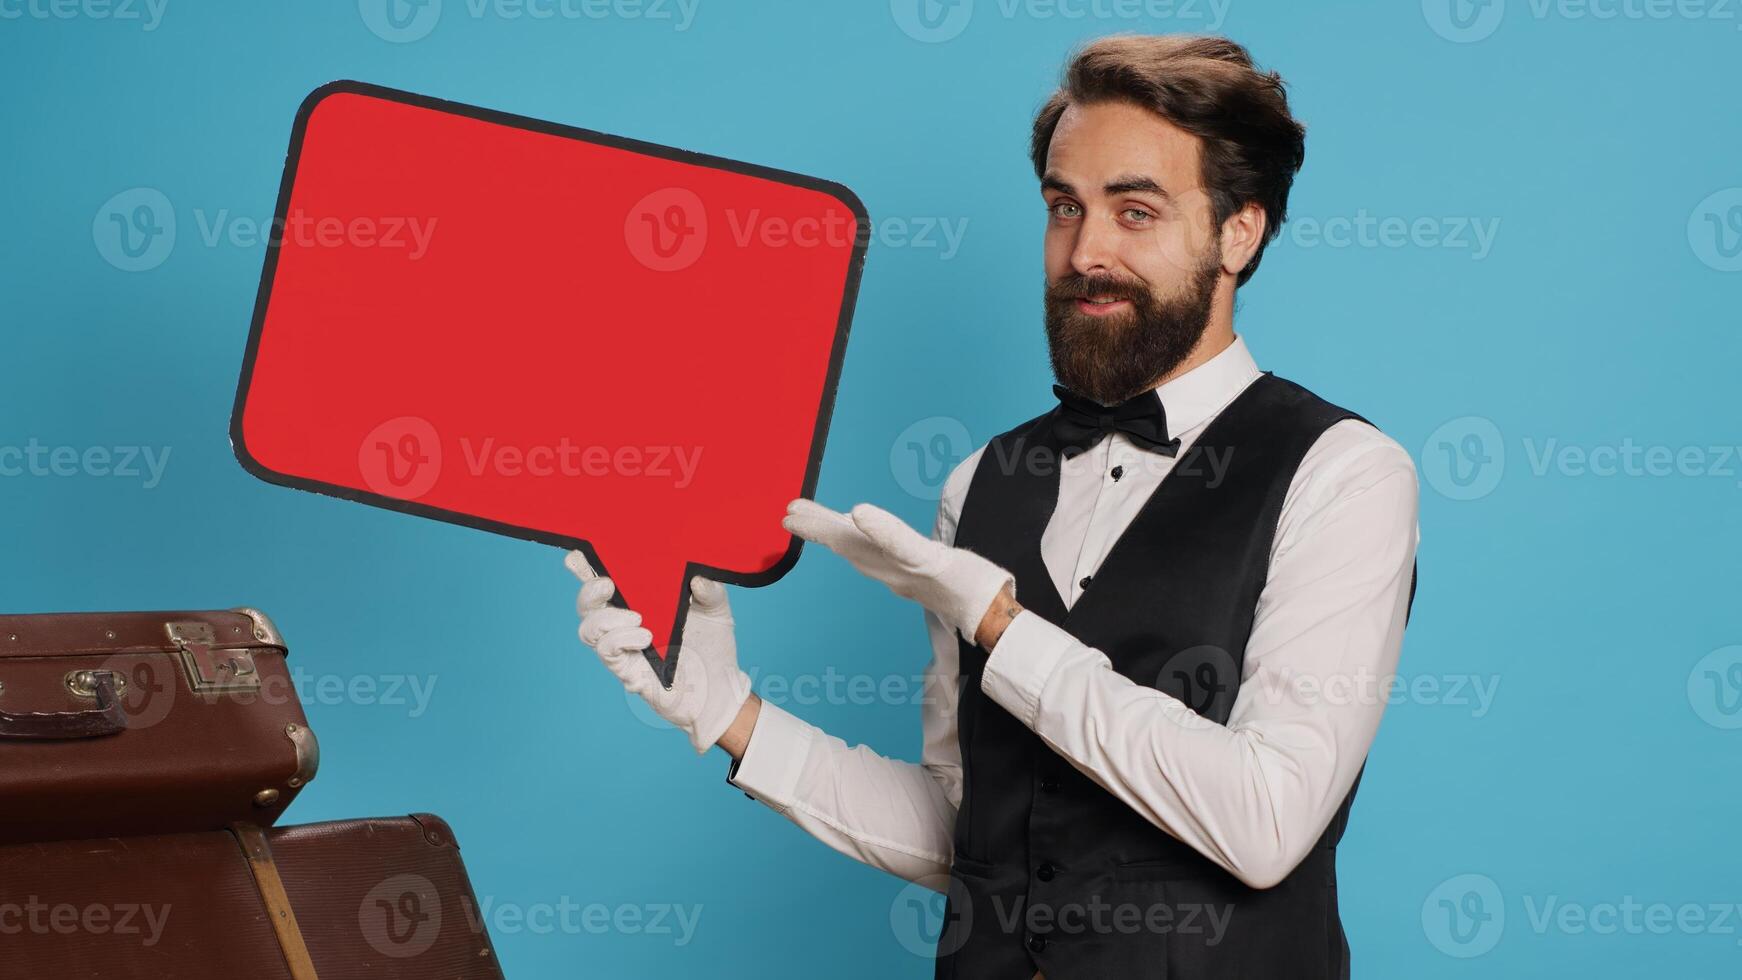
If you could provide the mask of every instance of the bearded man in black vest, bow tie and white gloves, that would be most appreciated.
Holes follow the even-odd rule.
[[[1216,37],[1113,37],[1040,108],[1057,400],[920,534],[810,500],[786,527],[927,611],[918,764],[763,703],[719,583],[672,688],[580,555],[582,639],[728,782],[948,895],[939,978],[1348,977],[1336,846],[1415,597],[1416,475],[1259,371],[1235,291],[1305,153],[1282,78]]]

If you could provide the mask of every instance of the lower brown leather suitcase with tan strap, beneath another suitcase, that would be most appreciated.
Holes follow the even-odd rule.
[[[502,980],[439,816],[0,848],[0,977]]]

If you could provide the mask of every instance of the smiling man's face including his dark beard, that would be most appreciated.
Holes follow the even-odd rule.
[[[1221,279],[1198,139],[1132,103],[1073,104],[1040,191],[1054,374],[1101,404],[1153,388],[1204,334]]]

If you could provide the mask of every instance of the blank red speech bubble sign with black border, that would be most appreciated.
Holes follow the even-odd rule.
[[[798,560],[868,228],[829,181],[334,82],[296,115],[237,458],[582,550],[669,686],[693,574]]]

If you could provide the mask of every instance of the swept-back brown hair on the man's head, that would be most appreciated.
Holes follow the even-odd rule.
[[[1265,209],[1265,237],[1235,282],[1246,285],[1287,219],[1289,188],[1306,155],[1306,129],[1289,113],[1282,77],[1254,68],[1252,56],[1223,37],[1096,40],[1077,50],[1059,91],[1035,115],[1028,155],[1036,178],[1045,176],[1064,110],[1104,101],[1136,103],[1202,141],[1200,176],[1218,230],[1249,200]]]

